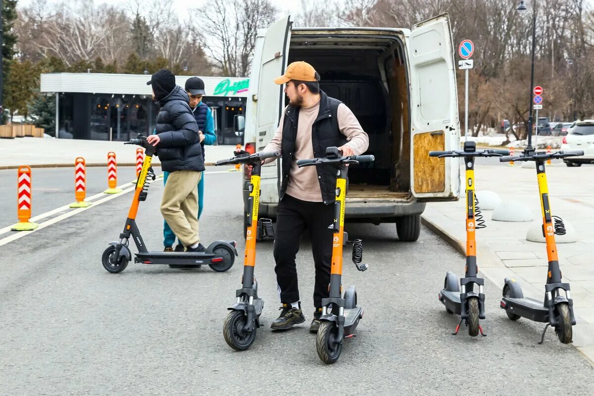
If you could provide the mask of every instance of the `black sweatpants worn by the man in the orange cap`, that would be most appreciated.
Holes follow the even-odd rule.
[[[315,308],[320,308],[322,299],[328,297],[334,236],[331,228],[333,221],[333,205],[301,201],[286,194],[279,202],[274,239],[274,261],[276,262],[274,271],[281,302],[299,301],[295,256],[299,251],[299,244],[305,230],[309,232],[314,256]]]

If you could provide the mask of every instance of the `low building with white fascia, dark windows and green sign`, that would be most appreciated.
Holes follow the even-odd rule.
[[[176,76],[182,88],[192,76]],[[233,117],[245,114],[247,78],[200,77],[214,118],[217,144],[243,144],[233,131]],[[103,73],[45,73],[41,91],[56,97],[56,130],[61,139],[127,141],[152,134],[157,106],[147,85],[150,75]]]

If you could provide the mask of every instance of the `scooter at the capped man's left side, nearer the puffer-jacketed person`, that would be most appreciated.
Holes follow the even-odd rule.
[[[280,153],[249,154],[246,151],[235,151],[235,157],[219,160],[215,165],[244,164],[251,165],[249,180],[249,198],[246,205],[245,258],[244,275],[241,278],[241,289],[236,290],[237,301],[230,306],[229,314],[223,324],[223,337],[227,344],[236,351],[243,351],[252,346],[260,327],[260,315],[264,308],[264,300],[258,297],[258,282],[254,276],[256,261],[256,240],[263,237],[274,237],[272,221],[268,218],[258,219],[260,207],[260,171],[262,161],[278,157]]]

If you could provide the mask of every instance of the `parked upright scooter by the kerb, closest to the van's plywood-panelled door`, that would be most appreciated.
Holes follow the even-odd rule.
[[[475,158],[501,157],[509,154],[508,150],[476,151],[476,144],[473,141],[466,141],[463,151],[429,151],[429,157],[461,157],[466,165],[466,274],[458,284],[456,274],[448,271],[445,274],[444,288],[438,294],[438,299],[445,305],[445,311],[460,315],[460,323],[456,326],[453,335],[458,334],[462,321],[466,321],[469,335],[476,337],[481,332],[481,335],[486,336],[479,324],[479,319],[485,319],[485,294],[483,293],[485,280],[477,275],[479,269],[476,264],[475,231],[484,228],[484,225],[479,225],[478,213],[476,213]],[[475,285],[478,286],[478,292]],[[462,292],[460,292],[460,286]]]

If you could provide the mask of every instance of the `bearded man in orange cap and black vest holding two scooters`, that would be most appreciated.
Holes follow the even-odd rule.
[[[276,134],[263,150],[279,151],[283,160],[274,240],[274,271],[282,312],[271,325],[275,330],[305,321],[295,256],[306,229],[315,264],[312,332],[320,327],[321,300],[328,297],[330,283],[336,172],[316,166],[299,168],[296,160],[324,156],[327,147],[338,147],[345,156],[360,155],[369,145],[353,112],[321,91],[319,81],[320,74],[307,62],[293,62],[285,74],[274,79],[276,84],[285,84],[290,100]]]

